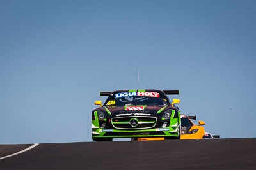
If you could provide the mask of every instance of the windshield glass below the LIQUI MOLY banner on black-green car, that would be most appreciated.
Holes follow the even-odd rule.
[[[106,101],[107,106],[136,106],[136,105],[147,105],[147,106],[166,106],[168,103],[166,99],[159,97],[148,97],[148,96],[128,96],[118,97]]]

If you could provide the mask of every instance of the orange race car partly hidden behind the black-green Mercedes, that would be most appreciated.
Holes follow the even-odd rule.
[[[186,116],[180,115],[181,120],[181,128],[180,128],[180,139],[204,139],[204,127],[205,125],[203,121],[198,121],[199,125],[193,124],[190,120],[196,120],[196,116]],[[164,138],[138,138],[134,139],[138,141],[153,141],[153,140],[164,140]]]

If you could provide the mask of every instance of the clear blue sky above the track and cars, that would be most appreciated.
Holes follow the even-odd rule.
[[[221,138],[256,137],[255,1],[0,1],[0,143],[92,141],[100,90],[180,90]]]

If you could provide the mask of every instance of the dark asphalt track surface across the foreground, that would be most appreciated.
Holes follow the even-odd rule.
[[[0,157],[31,145],[0,145]],[[256,138],[40,144],[0,169],[256,169]]]

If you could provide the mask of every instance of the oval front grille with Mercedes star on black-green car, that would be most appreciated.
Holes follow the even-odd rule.
[[[116,129],[148,129],[156,125],[156,117],[117,117],[112,118],[111,122]],[[132,124],[134,123],[134,124]]]

